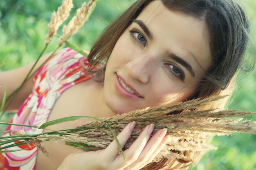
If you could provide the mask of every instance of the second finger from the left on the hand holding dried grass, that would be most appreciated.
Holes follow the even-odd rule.
[[[133,144],[130,146],[129,149],[124,151],[125,158],[128,162],[128,165],[130,165],[132,162],[136,161],[141,154],[141,151],[146,146],[148,139],[150,137],[150,134],[154,130],[155,125],[151,124],[150,126],[146,126],[144,130],[141,132],[139,137],[133,142]],[[124,163],[123,157],[119,156],[115,160],[117,167],[126,167],[126,164]]]

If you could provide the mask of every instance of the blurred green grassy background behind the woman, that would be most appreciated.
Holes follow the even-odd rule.
[[[71,16],[82,2],[83,0],[74,0]],[[88,22],[70,38],[70,42],[90,50],[92,43],[103,28],[132,2],[134,0],[99,0],[97,8]],[[252,22],[252,43],[255,45],[256,0],[243,0],[242,2]],[[60,4],[61,0],[1,0],[0,71],[24,66],[38,57],[44,46],[47,23],[52,11],[56,11]],[[54,50],[57,41],[57,38],[54,38],[47,51]],[[249,50],[248,55],[252,55],[252,51]],[[256,112],[255,87],[256,70],[243,74],[243,79],[239,81],[239,87],[232,97],[229,109]],[[256,120],[256,116],[247,117],[247,119]],[[231,136],[215,137],[212,144],[219,149],[205,154],[200,163],[192,169],[256,170],[255,141],[256,135],[238,133]]]

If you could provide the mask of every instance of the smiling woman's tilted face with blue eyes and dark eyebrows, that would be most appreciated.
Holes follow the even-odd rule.
[[[155,0],[121,35],[108,60],[104,101],[115,113],[181,102],[211,65],[204,20]]]

